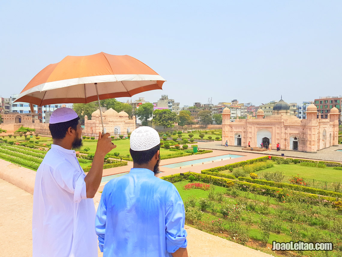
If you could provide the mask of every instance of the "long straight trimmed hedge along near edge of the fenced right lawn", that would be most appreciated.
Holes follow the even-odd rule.
[[[267,180],[261,180],[261,179],[250,179],[246,177],[238,177],[239,181],[245,181],[249,183],[255,183],[259,185],[268,185],[273,187],[279,187],[279,188],[287,188],[294,191],[300,191],[310,194],[317,194],[317,195],[325,195],[325,196],[331,196],[331,197],[339,197],[342,198],[341,193],[328,191],[324,189],[319,188],[313,188],[313,187],[307,187],[307,186],[301,186],[296,184],[288,184],[288,183],[281,183],[281,182],[274,182],[274,181],[267,181]]]

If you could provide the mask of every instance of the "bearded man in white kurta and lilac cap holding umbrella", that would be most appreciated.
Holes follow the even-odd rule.
[[[116,146],[110,134],[99,134],[93,165],[86,175],[75,148],[82,145],[82,127],[70,108],[52,112],[53,138],[37,173],[33,194],[33,256],[97,256],[93,198],[102,179],[105,155]]]

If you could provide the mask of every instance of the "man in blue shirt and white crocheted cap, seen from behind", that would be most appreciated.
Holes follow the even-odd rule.
[[[182,198],[173,184],[155,176],[159,149],[159,135],[151,127],[132,132],[133,168],[105,185],[96,213],[104,257],[188,256]]]

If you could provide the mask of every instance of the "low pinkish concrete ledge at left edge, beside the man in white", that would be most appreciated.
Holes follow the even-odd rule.
[[[0,159],[0,179],[33,194],[36,172]]]

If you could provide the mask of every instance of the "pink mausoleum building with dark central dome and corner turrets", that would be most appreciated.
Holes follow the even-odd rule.
[[[306,108],[306,119],[290,115],[290,106],[280,99],[273,106],[273,115],[264,116],[259,109],[257,119],[236,119],[230,121],[231,112],[225,108],[222,113],[222,145],[226,140],[231,146],[248,146],[276,149],[277,143],[282,150],[317,152],[338,145],[339,111],[333,107],[328,119],[321,119],[313,104]]]

